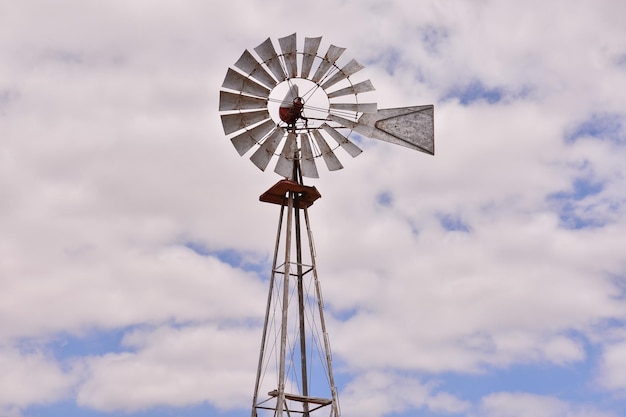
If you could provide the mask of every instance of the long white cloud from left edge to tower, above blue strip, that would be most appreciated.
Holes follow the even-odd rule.
[[[180,246],[138,250],[74,244],[55,248],[56,253],[46,254],[46,262],[14,258],[14,265],[5,268],[6,276],[16,279],[0,295],[2,308],[11,312],[2,320],[4,337],[262,317],[264,303],[258,294],[264,286],[254,274],[214,257]],[[45,314],[33,305],[42,306]]]

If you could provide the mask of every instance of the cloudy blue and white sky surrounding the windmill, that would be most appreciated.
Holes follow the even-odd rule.
[[[342,415],[623,416],[624,15],[0,0],[0,417],[248,415],[280,177],[219,90],[292,33],[435,106],[434,156],[363,139],[307,180]]]

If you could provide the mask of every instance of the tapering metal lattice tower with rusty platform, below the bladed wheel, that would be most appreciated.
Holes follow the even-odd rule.
[[[280,204],[281,209],[252,417],[339,417],[308,215],[308,207],[319,193],[314,187],[289,180],[280,181],[268,193],[273,197],[264,200],[266,193],[261,200]],[[307,238],[303,238],[305,234]]]

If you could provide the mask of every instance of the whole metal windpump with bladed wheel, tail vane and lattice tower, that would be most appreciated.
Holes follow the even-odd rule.
[[[340,65],[345,48],[335,45],[320,55],[321,41],[305,38],[298,50],[292,34],[278,39],[279,53],[268,38],[256,56],[243,52],[220,90],[224,133],[237,152],[252,152],[262,171],[275,159],[283,177],[260,196],[280,214],[252,417],[340,415],[308,214],[321,195],[303,177],[319,177],[320,158],[328,170],[342,169],[336,151],[356,157],[359,136],[434,155],[433,106],[379,110],[362,102],[374,91],[370,80],[354,80],[364,67],[354,59]]]

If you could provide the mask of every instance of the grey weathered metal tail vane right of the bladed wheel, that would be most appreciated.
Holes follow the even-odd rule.
[[[329,119],[334,118],[331,116]],[[378,110],[374,114],[361,115],[358,123],[353,124],[353,129],[363,136],[435,154],[432,105]]]

